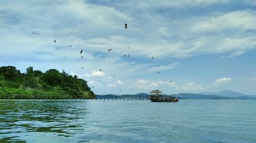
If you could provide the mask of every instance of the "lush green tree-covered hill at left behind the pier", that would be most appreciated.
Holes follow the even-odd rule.
[[[15,67],[0,67],[0,98],[95,98],[87,81],[50,69],[45,73],[28,67],[20,73]]]

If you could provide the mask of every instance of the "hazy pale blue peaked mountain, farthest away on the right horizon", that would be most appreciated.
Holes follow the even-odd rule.
[[[204,94],[204,95],[219,95],[219,96],[225,96],[225,97],[251,97],[251,98],[256,98],[256,96],[253,95],[244,95],[239,92],[233,92],[229,90],[223,90],[218,93],[210,93],[210,92],[205,92],[205,93],[198,93],[198,94]]]

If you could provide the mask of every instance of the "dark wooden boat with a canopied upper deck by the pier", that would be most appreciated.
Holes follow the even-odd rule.
[[[177,97],[173,97],[173,96],[163,96],[161,93],[161,91],[159,90],[153,90],[151,93],[151,97],[148,98],[150,99],[152,102],[178,102],[179,99]]]

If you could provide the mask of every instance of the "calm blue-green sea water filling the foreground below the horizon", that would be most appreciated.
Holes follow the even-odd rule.
[[[0,142],[256,142],[256,100],[0,100]]]

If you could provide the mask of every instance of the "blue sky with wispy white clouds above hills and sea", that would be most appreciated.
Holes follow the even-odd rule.
[[[256,95],[253,0],[2,0],[0,35],[0,66],[63,69],[98,95]]]

